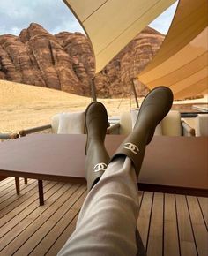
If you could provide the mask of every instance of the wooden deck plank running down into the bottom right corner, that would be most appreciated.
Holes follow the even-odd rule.
[[[204,225],[204,219],[196,197],[187,197],[189,215],[194,230],[197,244],[197,252],[200,256],[207,256],[208,253],[208,233]]]

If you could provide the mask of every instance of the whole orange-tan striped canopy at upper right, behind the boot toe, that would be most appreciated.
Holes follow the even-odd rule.
[[[182,0],[159,52],[138,79],[170,87],[175,99],[208,93],[208,2]]]

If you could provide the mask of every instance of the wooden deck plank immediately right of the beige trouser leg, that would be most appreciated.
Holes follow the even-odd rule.
[[[153,197],[152,192],[144,192],[143,199],[141,201],[138,219],[137,219],[137,228],[145,248],[147,245],[150,215],[152,211],[152,197]]]

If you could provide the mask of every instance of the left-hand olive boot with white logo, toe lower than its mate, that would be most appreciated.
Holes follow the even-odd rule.
[[[104,146],[108,127],[108,114],[100,102],[92,102],[85,110],[85,178],[90,191],[108,166],[109,155]]]

